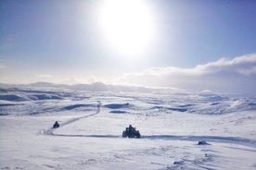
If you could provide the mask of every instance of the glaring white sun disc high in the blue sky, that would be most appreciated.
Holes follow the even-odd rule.
[[[123,54],[141,53],[153,40],[153,18],[145,1],[103,1],[99,22],[109,46]]]

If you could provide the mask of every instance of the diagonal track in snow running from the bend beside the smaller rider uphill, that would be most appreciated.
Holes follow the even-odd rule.
[[[81,117],[75,117],[75,118],[71,118],[70,120],[67,120],[66,122],[62,123],[62,124],[59,124],[59,128],[61,127],[64,127],[66,125],[70,125],[71,123],[74,123],[82,118],[87,118],[87,117],[90,117],[90,116],[94,116],[94,115],[98,115],[100,113],[100,107],[101,107],[101,102],[100,101],[97,101],[97,104],[96,104],[96,113],[95,114],[90,114],[90,115],[84,115],[84,116],[81,116]],[[44,130],[44,134],[45,135],[51,135],[51,136],[60,136],[58,134],[54,134],[54,130],[57,129],[57,128],[48,128],[46,130]]]

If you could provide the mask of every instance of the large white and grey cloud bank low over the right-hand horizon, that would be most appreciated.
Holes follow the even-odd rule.
[[[126,74],[121,80],[149,87],[256,95],[256,54],[231,60],[222,58],[193,68],[151,67],[139,73]]]

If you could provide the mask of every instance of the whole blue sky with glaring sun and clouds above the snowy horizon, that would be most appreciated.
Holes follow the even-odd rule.
[[[254,0],[1,0],[0,82],[252,93]]]

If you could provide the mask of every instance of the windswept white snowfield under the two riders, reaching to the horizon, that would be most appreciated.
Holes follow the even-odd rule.
[[[0,169],[256,169],[256,99],[0,87]],[[59,128],[52,128],[58,121]],[[123,139],[133,125],[141,139]]]

